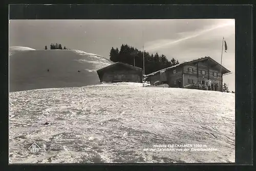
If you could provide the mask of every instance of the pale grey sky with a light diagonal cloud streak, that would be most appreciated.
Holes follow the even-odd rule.
[[[179,62],[209,56],[232,74],[223,80],[234,91],[234,19],[10,20],[10,46],[36,50],[51,43],[109,58],[111,47],[128,44]]]

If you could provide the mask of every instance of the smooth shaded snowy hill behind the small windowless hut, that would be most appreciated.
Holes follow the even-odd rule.
[[[112,63],[101,56],[77,50],[10,47],[9,91],[98,84],[96,70]]]

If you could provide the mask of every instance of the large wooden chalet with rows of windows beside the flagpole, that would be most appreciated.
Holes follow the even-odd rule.
[[[208,89],[222,91],[222,76],[231,72],[210,57],[185,61],[146,75],[153,85],[168,84],[169,87]],[[212,85],[207,85],[210,83]],[[202,87],[200,87],[202,86]]]

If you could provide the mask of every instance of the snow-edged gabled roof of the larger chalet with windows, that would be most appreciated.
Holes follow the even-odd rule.
[[[204,60],[211,60],[212,62],[216,63],[217,65],[221,66],[221,64],[219,64],[218,62],[216,62],[214,59],[210,58],[210,57],[204,57],[204,58],[199,58],[199,59],[194,59],[194,60],[190,60],[190,61],[184,61],[184,62],[181,62],[177,65],[174,65],[174,66],[170,66],[170,67],[167,67],[167,68],[164,68],[164,69],[161,69],[161,70],[158,70],[158,71],[155,71],[155,72],[152,72],[151,74],[148,74],[146,75],[145,77],[148,77],[148,76],[154,76],[155,74],[159,73],[159,72],[164,72],[166,70],[169,70],[169,69],[172,69],[172,68],[175,68],[177,66],[181,66],[181,65],[185,65],[185,64],[189,64],[189,63],[194,63],[194,62],[199,62],[199,61],[204,61]],[[228,70],[227,68],[225,68],[224,66],[222,66],[222,70],[225,70],[226,73],[229,73],[231,72],[230,70]]]

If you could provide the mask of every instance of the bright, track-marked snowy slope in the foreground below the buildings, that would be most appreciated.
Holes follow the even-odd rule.
[[[9,160],[234,162],[234,102],[233,93],[140,83],[11,92]],[[28,150],[34,142],[37,153]],[[154,144],[202,144],[218,151],[143,151]]]

